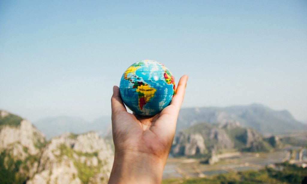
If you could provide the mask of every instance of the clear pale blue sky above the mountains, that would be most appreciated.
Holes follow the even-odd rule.
[[[112,86],[142,59],[189,75],[183,107],[307,120],[307,1],[0,1],[0,109],[109,116]]]

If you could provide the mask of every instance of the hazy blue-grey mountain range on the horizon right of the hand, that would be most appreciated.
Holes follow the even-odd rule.
[[[239,121],[243,127],[251,127],[256,131],[272,134],[307,129],[307,125],[297,121],[289,111],[274,111],[260,104],[230,107],[200,107],[181,109],[177,129],[188,128],[199,122],[226,123]]]

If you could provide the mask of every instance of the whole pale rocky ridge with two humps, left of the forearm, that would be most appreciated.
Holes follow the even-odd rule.
[[[29,121],[0,110],[0,183],[107,183],[113,158],[95,132],[47,142]]]

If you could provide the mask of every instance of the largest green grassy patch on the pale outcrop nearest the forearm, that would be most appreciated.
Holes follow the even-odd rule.
[[[73,157],[73,154],[76,154],[78,156],[85,156],[87,158],[97,157],[98,152],[83,153],[81,151],[72,150],[71,148],[68,148],[65,144],[60,145],[60,151],[61,154],[58,156],[58,159],[62,159],[64,155],[66,155],[69,159],[72,159],[76,169],[78,170],[78,177],[83,183],[88,183],[89,178],[93,177],[96,173],[100,171],[100,162],[98,162],[98,166],[96,167],[89,167],[86,165],[86,162],[82,163],[80,162],[80,160],[75,159]]]

